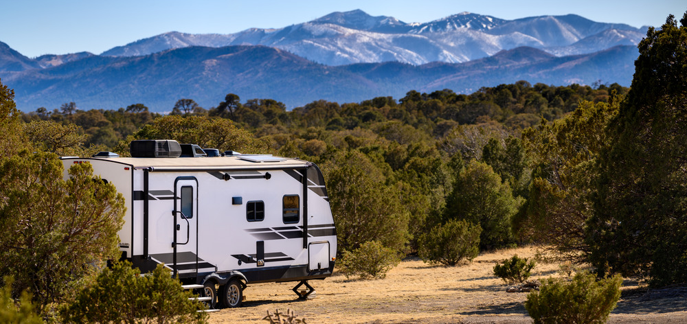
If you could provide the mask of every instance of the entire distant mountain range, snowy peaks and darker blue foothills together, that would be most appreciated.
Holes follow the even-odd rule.
[[[72,101],[170,111],[181,98],[210,108],[227,93],[293,108],[413,89],[471,93],[517,80],[629,86],[645,31],[575,15],[506,21],[464,12],[420,24],[354,10],[280,29],[170,32],[100,55],[32,59],[0,42],[0,78],[24,111]]]

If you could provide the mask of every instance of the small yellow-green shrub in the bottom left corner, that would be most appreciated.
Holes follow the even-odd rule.
[[[26,292],[21,293],[17,305],[12,299],[12,277],[3,279],[5,286],[0,288],[0,323],[41,324],[43,320],[34,312],[31,296]]]

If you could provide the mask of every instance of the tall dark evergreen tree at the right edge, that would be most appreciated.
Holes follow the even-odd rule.
[[[611,121],[596,213],[587,226],[600,273],[687,282],[687,12],[640,42],[627,100]]]

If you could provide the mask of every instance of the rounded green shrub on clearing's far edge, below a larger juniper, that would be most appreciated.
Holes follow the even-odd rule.
[[[449,220],[420,236],[418,254],[425,262],[455,266],[480,253],[482,228],[466,220]]]

